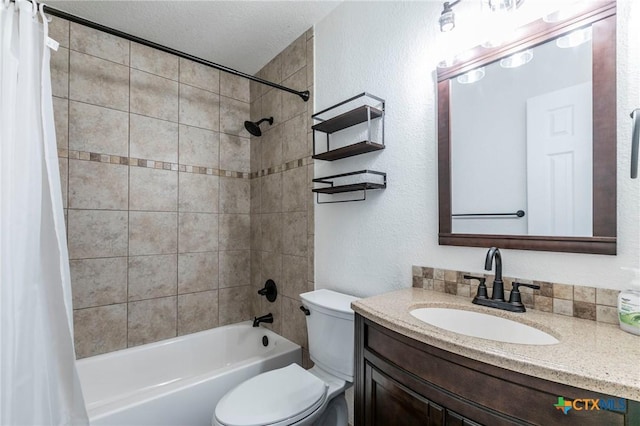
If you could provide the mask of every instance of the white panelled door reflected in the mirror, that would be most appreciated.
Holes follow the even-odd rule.
[[[593,236],[591,83],[527,100],[529,235]]]

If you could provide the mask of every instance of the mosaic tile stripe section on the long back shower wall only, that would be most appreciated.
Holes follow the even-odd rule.
[[[231,170],[220,170],[211,167],[191,166],[186,164],[170,163],[166,161],[145,160],[141,158],[122,157],[119,155],[100,154],[96,152],[59,149],[58,157],[70,158],[72,160],[95,161],[99,163],[122,164],[133,167],[146,167],[149,169],[180,171],[183,173],[249,179],[248,172],[234,172]]]

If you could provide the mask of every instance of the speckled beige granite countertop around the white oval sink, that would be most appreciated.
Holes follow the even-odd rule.
[[[355,312],[390,330],[477,361],[570,386],[640,401],[640,336],[618,326],[528,310],[513,313],[473,305],[468,298],[408,288],[353,302]],[[453,333],[414,318],[423,307],[485,312],[539,328],[554,345],[496,342]]]

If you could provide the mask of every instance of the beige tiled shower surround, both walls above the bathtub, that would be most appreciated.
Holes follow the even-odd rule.
[[[304,342],[300,318],[282,318],[308,288],[307,168],[250,172],[252,144],[260,167],[307,155],[308,104],[259,87],[252,109],[246,79],[60,19],[51,36],[78,357],[266,312],[254,307],[254,255],[260,279],[278,273],[278,330]],[[296,43],[265,77],[306,88],[306,35]],[[243,122],[263,100],[275,124],[251,142]],[[250,213],[266,237],[253,252]]]

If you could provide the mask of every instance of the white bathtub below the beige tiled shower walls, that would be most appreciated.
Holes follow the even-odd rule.
[[[204,426],[228,390],[293,362],[301,363],[300,346],[243,322],[84,358],[77,366],[91,425]]]

